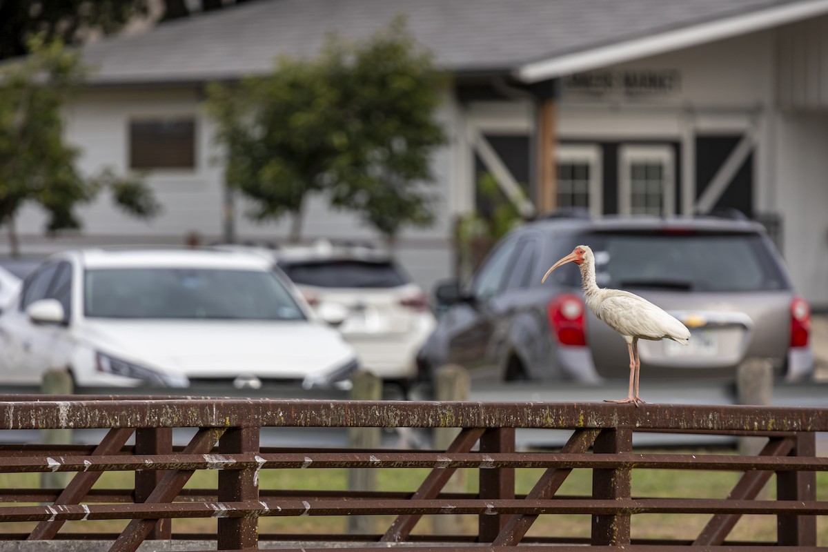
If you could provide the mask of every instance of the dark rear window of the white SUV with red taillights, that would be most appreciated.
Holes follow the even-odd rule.
[[[408,278],[392,262],[325,261],[280,262],[295,284],[316,287],[397,287]]]

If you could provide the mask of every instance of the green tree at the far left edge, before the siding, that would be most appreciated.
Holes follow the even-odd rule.
[[[7,227],[12,253],[19,251],[15,216],[26,203],[46,210],[49,233],[80,228],[75,206],[92,201],[104,187],[129,214],[156,214],[159,206],[141,180],[118,178],[112,170],[80,174],[79,151],[63,140],[60,108],[86,70],[60,41],[36,38],[29,48],[25,59],[0,67],[0,224]]]

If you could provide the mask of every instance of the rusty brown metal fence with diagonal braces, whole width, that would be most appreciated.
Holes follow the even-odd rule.
[[[261,447],[264,427],[460,428],[445,450],[284,449]],[[144,540],[187,539],[171,520],[218,518],[219,550],[258,550],[259,539],[301,541],[306,552],[332,544],[375,550],[406,545],[439,550],[828,550],[818,546],[816,473],[828,458],[816,455],[815,435],[828,431],[825,411],[753,406],[606,403],[498,403],[431,401],[291,401],[194,399],[158,396],[0,396],[0,429],[97,428],[99,444],[4,444],[2,473],[75,473],[65,488],[0,489],[0,531],[6,522],[36,522],[7,540],[111,540],[109,550],[137,550]],[[195,434],[173,446],[176,428]],[[515,428],[571,430],[556,450],[516,451]],[[633,453],[637,432],[703,432],[766,438],[758,455]],[[262,470],[284,468],[430,468],[412,492],[285,491],[259,488]],[[459,468],[476,470],[478,491],[447,492]],[[531,491],[515,492],[515,470],[542,468]],[[558,491],[573,470],[592,470],[591,496]],[[639,469],[743,473],[722,499],[638,497]],[[215,488],[185,488],[198,470],[218,470]],[[134,487],[94,487],[105,472],[134,472]],[[777,497],[762,488],[775,476]],[[695,540],[633,538],[633,516],[703,513],[710,521]],[[476,535],[413,532],[422,516],[478,517]],[[591,516],[588,538],[527,531],[538,516]],[[773,542],[728,540],[740,516],[761,514],[777,526]],[[279,535],[258,533],[267,516],[378,516],[390,519],[377,534]],[[392,516],[392,517],[388,517]],[[82,534],[65,524],[123,520],[117,535]]]

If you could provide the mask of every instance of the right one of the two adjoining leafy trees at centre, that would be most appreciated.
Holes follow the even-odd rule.
[[[431,154],[445,143],[436,122],[445,75],[397,18],[369,41],[332,41],[332,84],[343,91],[349,155],[335,165],[332,200],[389,241],[433,222]]]

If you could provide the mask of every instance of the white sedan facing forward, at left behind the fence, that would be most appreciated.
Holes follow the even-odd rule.
[[[347,382],[357,367],[291,282],[248,253],[62,252],[0,314],[4,382],[67,368],[80,386],[309,387]]]

